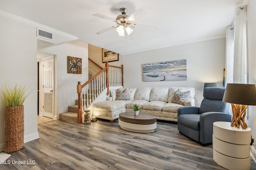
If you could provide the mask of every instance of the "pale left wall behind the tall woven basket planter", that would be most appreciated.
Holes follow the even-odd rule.
[[[24,102],[24,141],[38,138],[36,27],[0,16],[0,87],[27,84]],[[2,99],[2,93],[0,93]],[[0,102],[0,150],[4,149],[5,105]]]

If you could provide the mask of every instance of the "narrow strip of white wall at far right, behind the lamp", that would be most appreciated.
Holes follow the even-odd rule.
[[[250,0],[247,6],[247,25],[248,25],[248,76],[249,84],[256,84],[256,1]],[[249,106],[249,118],[247,125],[252,129],[252,138],[256,143],[256,106]],[[256,146],[253,147],[254,160],[256,159]]]

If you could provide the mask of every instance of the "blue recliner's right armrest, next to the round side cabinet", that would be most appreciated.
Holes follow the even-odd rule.
[[[222,112],[206,112],[200,115],[200,142],[212,143],[213,123],[216,121],[231,122],[231,115]]]

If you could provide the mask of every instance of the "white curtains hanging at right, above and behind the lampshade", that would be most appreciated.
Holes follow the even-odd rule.
[[[234,26],[226,31],[226,70],[227,83],[247,83],[246,45],[246,6],[237,5]]]

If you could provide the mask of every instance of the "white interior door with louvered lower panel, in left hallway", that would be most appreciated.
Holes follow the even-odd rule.
[[[54,115],[54,59],[44,60],[44,116],[53,118]]]

